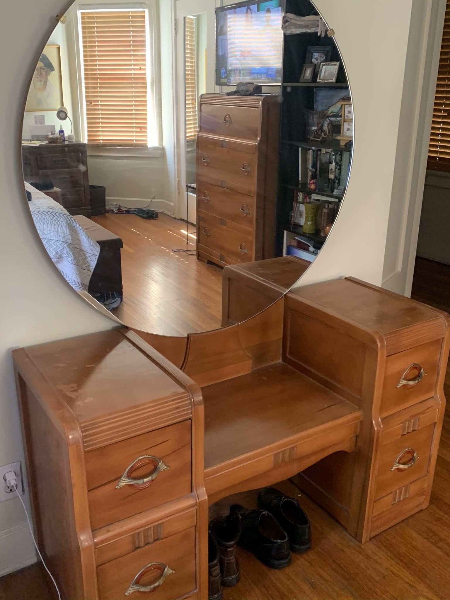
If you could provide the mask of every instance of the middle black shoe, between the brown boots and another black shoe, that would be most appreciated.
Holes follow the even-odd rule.
[[[233,504],[230,511],[241,515],[242,533],[239,546],[249,550],[264,565],[282,569],[290,563],[289,539],[274,517],[267,511],[248,511]]]

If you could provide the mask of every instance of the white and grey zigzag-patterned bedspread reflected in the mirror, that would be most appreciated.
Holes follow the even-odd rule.
[[[26,182],[25,188],[31,192],[28,205],[47,253],[77,292],[87,292],[100,246],[58,202]]]

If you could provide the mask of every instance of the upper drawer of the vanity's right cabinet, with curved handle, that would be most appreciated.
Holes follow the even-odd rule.
[[[434,340],[386,358],[382,416],[434,395],[441,346],[442,340]]]

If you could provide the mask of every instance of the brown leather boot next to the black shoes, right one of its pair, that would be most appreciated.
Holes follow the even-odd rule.
[[[224,587],[235,586],[241,578],[236,558],[236,544],[241,535],[241,517],[238,512],[232,511],[223,520],[212,524],[211,529],[219,545],[222,585]]]

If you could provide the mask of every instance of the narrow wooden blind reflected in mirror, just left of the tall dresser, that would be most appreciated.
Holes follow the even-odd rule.
[[[196,68],[196,20],[185,17],[185,90],[186,90],[186,139],[196,139],[197,114],[197,68]]]

